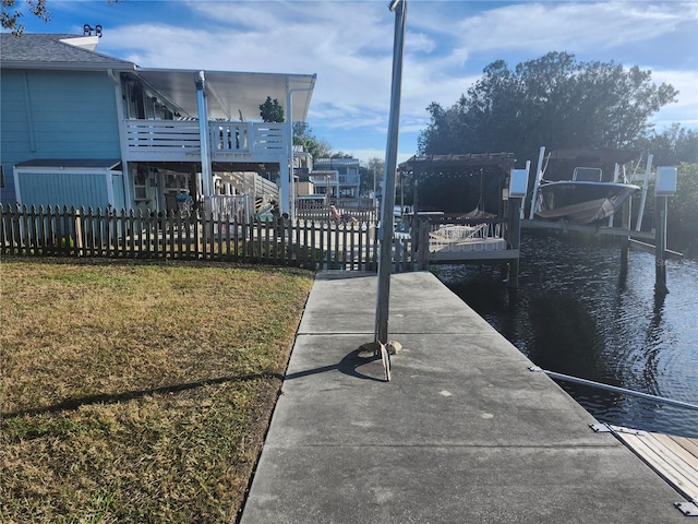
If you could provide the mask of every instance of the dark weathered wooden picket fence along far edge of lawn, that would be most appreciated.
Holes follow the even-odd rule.
[[[309,270],[377,271],[377,223],[246,222],[219,215],[0,206],[0,253],[222,260]],[[428,265],[426,224],[396,235],[393,271]],[[419,241],[421,238],[421,242]]]

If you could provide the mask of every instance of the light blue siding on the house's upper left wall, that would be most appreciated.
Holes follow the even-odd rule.
[[[121,157],[115,86],[106,72],[3,69],[0,97],[2,204],[16,202],[12,168],[21,162]],[[70,198],[63,203],[72,205]]]

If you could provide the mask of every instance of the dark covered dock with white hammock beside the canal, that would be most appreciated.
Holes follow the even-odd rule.
[[[398,166],[402,190],[412,192],[407,223],[429,224],[430,263],[502,264],[518,285],[521,199],[508,199],[514,163],[513,153],[483,153],[412,156]]]

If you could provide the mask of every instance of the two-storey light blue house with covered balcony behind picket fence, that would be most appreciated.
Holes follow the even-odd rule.
[[[161,212],[181,192],[268,187],[246,182],[263,172],[293,209],[291,121],[314,74],[149,69],[96,52],[95,36],[1,38],[2,204]],[[261,121],[267,96],[286,122]]]

